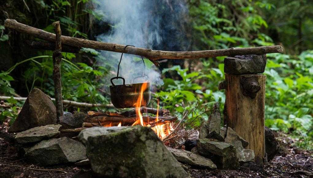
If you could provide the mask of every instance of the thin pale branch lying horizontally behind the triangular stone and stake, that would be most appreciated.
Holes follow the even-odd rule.
[[[10,96],[0,96],[0,99],[3,100],[8,100],[10,99]],[[18,101],[24,101],[27,98],[26,97],[13,97],[13,99],[16,99]],[[55,98],[51,98],[52,101],[55,101]],[[92,104],[92,103],[80,103],[80,102],[76,102],[76,101],[70,101],[70,100],[63,100],[62,101],[63,104],[66,105],[70,105],[70,106],[75,106],[75,107],[85,107],[85,108],[93,108],[93,107],[97,107],[96,104]],[[113,108],[113,104],[98,104],[99,107],[102,108]]]

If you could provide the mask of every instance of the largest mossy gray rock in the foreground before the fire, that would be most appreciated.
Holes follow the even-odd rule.
[[[91,168],[102,177],[189,177],[153,130],[93,127],[80,132]]]

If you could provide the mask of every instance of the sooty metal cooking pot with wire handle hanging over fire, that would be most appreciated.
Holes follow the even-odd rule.
[[[118,68],[117,68],[117,76],[113,77],[111,79],[111,84],[112,84],[110,86],[111,102],[116,108],[134,108],[134,107],[136,107],[136,103],[137,103],[138,98],[140,96],[141,87],[144,84],[144,83],[137,83],[137,84],[127,84],[126,85],[125,79],[123,77],[118,76],[122,56],[123,56],[124,50],[127,46],[130,46],[130,45],[126,45],[122,51],[120,63],[118,64]],[[143,64],[145,65],[145,62],[144,62],[142,56],[141,56],[141,58],[142,58]],[[146,68],[146,65],[145,65],[145,68]],[[143,73],[140,76],[137,76],[136,78],[145,77],[147,80],[148,78],[146,75],[144,75],[144,71],[145,71],[145,69],[143,70]],[[134,81],[136,78],[134,78]],[[122,85],[115,85],[113,83],[114,79],[122,79],[123,84]],[[143,92],[143,97],[141,100],[141,106],[146,106],[147,104],[149,104],[150,98],[151,98],[150,83],[147,82],[146,84],[147,84],[147,86]]]

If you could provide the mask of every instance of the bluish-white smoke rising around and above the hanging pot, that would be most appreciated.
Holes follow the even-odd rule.
[[[184,1],[98,0],[98,2],[97,10],[105,14],[102,20],[111,25],[111,30],[98,35],[97,40],[134,45],[140,48],[173,51],[183,50],[183,47],[186,46],[179,43],[185,38],[179,25],[183,15],[187,14]],[[106,63],[113,68],[114,72],[110,77],[115,77],[121,53],[107,51],[101,53],[106,58]],[[126,84],[131,84],[134,83],[135,76],[144,72],[152,85],[163,84],[160,70],[154,65],[150,68],[147,66],[145,71],[143,69],[140,56],[124,54],[119,76],[125,78]],[[135,81],[135,83],[140,82],[142,81]],[[122,84],[122,81],[115,80],[115,84]]]

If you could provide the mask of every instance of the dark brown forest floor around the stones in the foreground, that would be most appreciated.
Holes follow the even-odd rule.
[[[18,156],[18,150],[13,145],[13,137],[7,133],[7,129],[8,121],[6,120],[0,125],[0,177],[94,177],[88,174],[90,173],[89,166],[78,167],[68,164],[40,166],[28,163],[27,160]],[[207,170],[188,166],[184,168],[192,177],[309,177],[304,174],[292,174],[292,172],[313,171],[313,154],[291,146],[293,140],[286,134],[280,133],[276,137],[281,145],[280,153],[264,168],[254,163],[241,165],[238,170]],[[63,170],[67,173],[51,169]]]

